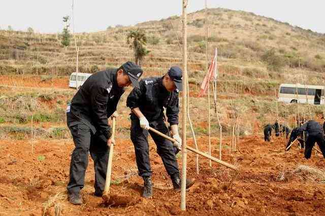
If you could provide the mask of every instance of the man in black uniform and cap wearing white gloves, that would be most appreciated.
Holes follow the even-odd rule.
[[[140,89],[134,88],[128,95],[126,106],[131,109],[131,139],[136,153],[139,175],[143,177],[143,197],[152,196],[152,171],[149,161],[148,133],[156,143],[157,153],[172,179],[175,190],[180,190],[181,179],[173,143],[152,131],[149,126],[168,135],[164,122],[164,107],[171,125],[173,138],[177,140],[174,146],[181,149],[182,140],[178,133],[178,92],[182,90],[182,70],[173,66],[164,77],[151,77],[140,81]],[[194,181],[187,179],[186,187]]]

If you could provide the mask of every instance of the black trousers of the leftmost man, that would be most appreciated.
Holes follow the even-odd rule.
[[[88,166],[88,152],[94,162],[95,193],[102,193],[105,187],[109,147],[102,139],[92,134],[85,124],[69,127],[75,143],[70,163],[68,192],[76,193],[84,187],[85,173]]]

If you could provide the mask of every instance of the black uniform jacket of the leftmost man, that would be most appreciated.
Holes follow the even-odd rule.
[[[124,93],[124,89],[117,85],[116,71],[99,71],[84,82],[71,101],[70,113],[67,115],[69,126],[82,122],[107,141],[111,136],[108,118],[116,111],[117,103]]]

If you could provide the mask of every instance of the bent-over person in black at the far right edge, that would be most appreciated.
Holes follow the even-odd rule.
[[[308,133],[305,147],[305,158],[310,158],[311,151],[315,145],[315,142],[317,142],[317,145],[319,146],[320,151],[325,158],[325,140],[321,125],[318,122],[310,120],[298,129],[299,134],[301,134],[303,131],[307,131]]]

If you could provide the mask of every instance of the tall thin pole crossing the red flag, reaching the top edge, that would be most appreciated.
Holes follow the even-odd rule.
[[[208,16],[207,16],[207,0],[205,0],[205,69],[208,75],[208,122],[209,122],[209,155],[211,156],[211,109],[210,109],[210,77],[208,71]],[[212,166],[211,160],[209,166]]]

